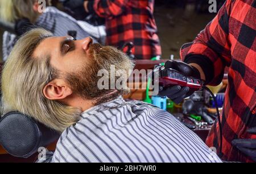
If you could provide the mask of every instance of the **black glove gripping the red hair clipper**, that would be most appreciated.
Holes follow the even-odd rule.
[[[175,69],[176,71],[184,73],[189,77],[201,79],[200,72],[195,67],[192,67],[191,65],[188,65],[182,61],[169,60],[166,62],[164,67]],[[167,96],[175,103],[180,103],[184,98],[191,96],[192,93],[193,92],[187,86],[172,86],[159,91],[159,96]]]

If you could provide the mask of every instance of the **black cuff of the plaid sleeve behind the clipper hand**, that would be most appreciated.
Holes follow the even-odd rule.
[[[187,55],[184,60],[185,63],[195,63],[199,65],[205,74],[205,85],[209,84],[214,78],[213,63],[207,56],[204,55]]]

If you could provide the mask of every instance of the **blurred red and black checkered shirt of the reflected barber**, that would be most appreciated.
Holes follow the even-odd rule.
[[[156,34],[154,0],[94,0],[88,10],[106,19],[106,44],[121,49],[133,42],[137,59],[151,59],[162,54]]]

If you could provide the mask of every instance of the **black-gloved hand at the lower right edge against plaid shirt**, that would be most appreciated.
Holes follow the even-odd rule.
[[[256,127],[247,130],[247,132],[256,135]],[[234,139],[232,144],[256,162],[256,139]]]

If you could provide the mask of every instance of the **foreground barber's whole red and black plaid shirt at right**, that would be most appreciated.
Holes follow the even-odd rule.
[[[228,161],[251,161],[231,142],[237,138],[256,138],[246,132],[256,126],[255,8],[254,0],[227,0],[194,42],[181,48],[182,59],[186,63],[199,64],[210,85],[219,84],[225,67],[229,67],[229,84],[221,117],[222,159]],[[208,135],[208,146],[216,147],[218,151],[219,137],[216,121]]]

